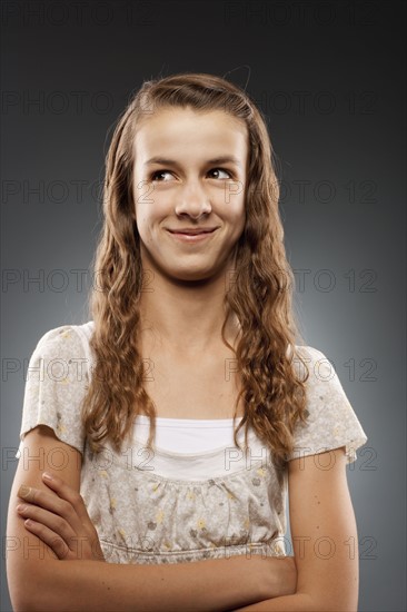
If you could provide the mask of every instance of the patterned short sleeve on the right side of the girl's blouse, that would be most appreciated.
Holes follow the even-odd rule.
[[[309,371],[306,384],[307,423],[295,426],[295,447],[288,461],[346,447],[347,463],[357,460],[356,451],[367,436],[340,384],[334,365],[320,351],[297,347]],[[301,372],[304,365],[301,364]]]

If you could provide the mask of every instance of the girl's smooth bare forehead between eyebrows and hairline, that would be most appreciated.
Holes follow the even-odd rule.
[[[235,155],[245,161],[248,135],[245,122],[222,110],[195,111],[163,108],[151,113],[136,129],[136,159],[153,156]],[[142,158],[142,159],[141,159]]]

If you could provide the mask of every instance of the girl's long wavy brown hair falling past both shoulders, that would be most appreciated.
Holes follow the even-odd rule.
[[[156,407],[143,386],[145,364],[137,343],[140,326],[142,269],[140,238],[133,215],[135,130],[151,112],[168,107],[197,112],[222,110],[240,119],[249,135],[246,225],[235,247],[235,278],[225,292],[224,343],[236,355],[246,425],[272,451],[284,467],[294,450],[294,426],[306,421],[308,368],[297,352],[299,326],[292,308],[294,275],[286,258],[278,211],[279,184],[266,120],[238,86],[207,73],[178,73],[145,81],[116,124],[106,158],[103,227],[92,266],[89,308],[95,322],[90,339],[95,366],[82,404],[82,419],[93,452],[110,441],[120,452],[129,442],[135,417],[150,417],[147,446],[156,440]],[[237,317],[236,349],[225,338],[228,316]],[[304,344],[304,343],[301,343]],[[296,364],[301,363],[304,376]],[[141,411],[142,408],[142,411]]]

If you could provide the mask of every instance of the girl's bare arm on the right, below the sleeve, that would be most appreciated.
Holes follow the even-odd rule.
[[[289,462],[289,512],[297,592],[238,610],[356,612],[357,527],[344,447],[321,453],[317,460],[310,455]],[[349,540],[356,546],[354,559]]]

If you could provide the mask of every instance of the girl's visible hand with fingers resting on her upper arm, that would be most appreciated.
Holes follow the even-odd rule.
[[[57,495],[40,488],[20,487],[18,496],[23,500],[17,511],[24,521],[24,527],[44,542],[59,560],[105,561],[98,533],[89,519],[82,496],[61,478],[43,483]]]

